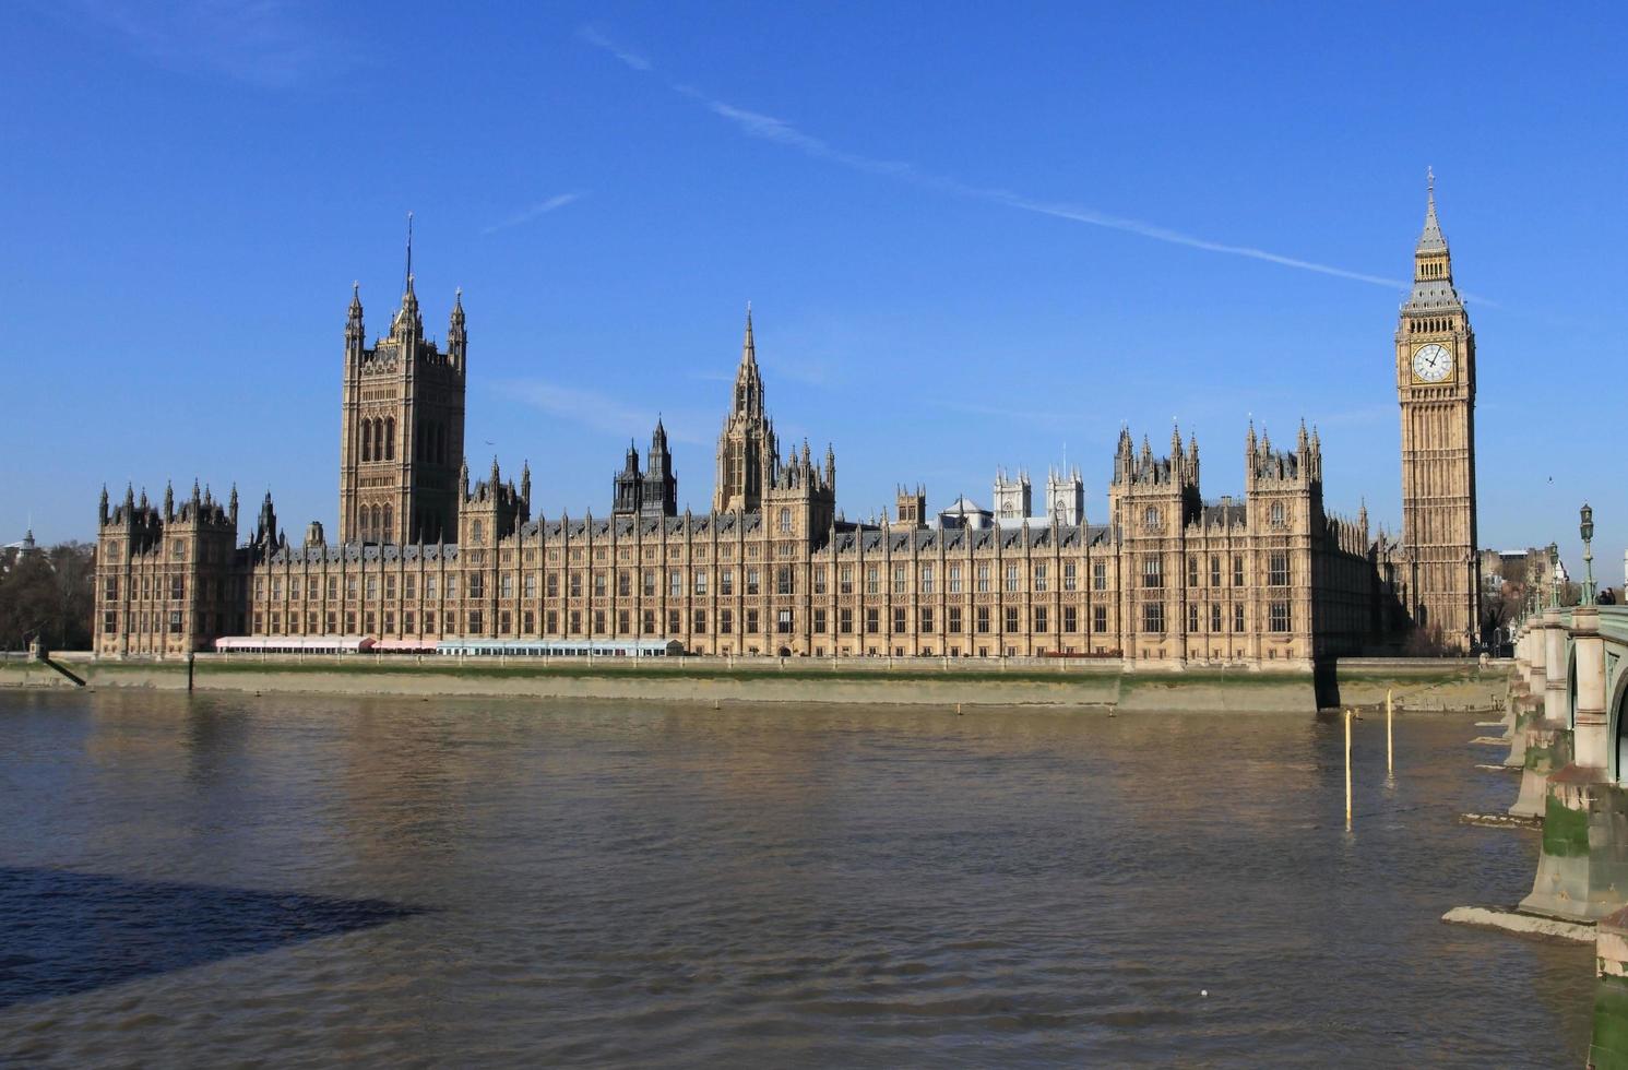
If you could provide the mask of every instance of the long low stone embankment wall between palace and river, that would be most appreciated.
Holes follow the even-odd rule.
[[[91,687],[184,691],[184,661],[96,661],[59,655]],[[1381,705],[1395,691],[1403,710],[1498,705],[1503,666],[1473,661],[1353,661],[1337,669],[1340,704]],[[679,702],[832,702],[900,705],[1045,705],[1101,710],[1312,712],[1317,687],[1304,669],[1185,668],[1125,671],[1118,663],[1009,658],[684,658],[594,661],[440,656],[200,655],[199,691],[492,695]],[[0,663],[0,687],[72,687],[47,666]],[[1348,697],[1350,694],[1350,697]]]

